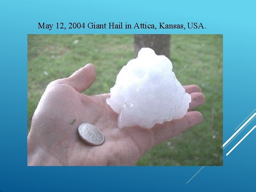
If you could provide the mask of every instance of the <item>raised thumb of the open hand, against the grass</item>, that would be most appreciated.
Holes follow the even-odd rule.
[[[69,78],[65,78],[65,84],[74,87],[76,91],[81,93],[92,85],[95,77],[95,66],[90,63],[75,71]]]

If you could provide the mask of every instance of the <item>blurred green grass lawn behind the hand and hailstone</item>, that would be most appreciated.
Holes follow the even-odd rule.
[[[78,40],[78,43],[74,43]],[[222,35],[172,35],[170,58],[182,85],[197,84],[206,103],[204,121],[155,146],[137,165],[222,165]],[[28,132],[47,84],[87,63],[97,77],[85,92],[109,92],[123,65],[134,58],[133,35],[28,35]]]

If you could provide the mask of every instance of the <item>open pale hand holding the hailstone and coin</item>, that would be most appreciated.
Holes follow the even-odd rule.
[[[69,78],[47,86],[27,138],[28,165],[135,165],[154,145],[202,121],[201,113],[191,111],[182,119],[157,124],[152,129],[120,129],[118,114],[106,104],[110,94],[81,94],[92,85],[95,76],[94,65],[88,64]],[[203,104],[204,95],[198,86],[184,88],[192,97],[189,110]],[[101,129],[105,142],[100,146],[86,144],[78,135],[81,123]]]

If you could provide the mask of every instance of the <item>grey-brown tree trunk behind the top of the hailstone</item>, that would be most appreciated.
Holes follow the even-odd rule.
[[[135,58],[138,56],[139,50],[143,47],[149,47],[153,49],[157,55],[165,55],[169,58],[170,37],[169,34],[135,34]]]

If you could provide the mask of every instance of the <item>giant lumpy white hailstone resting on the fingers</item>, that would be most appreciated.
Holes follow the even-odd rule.
[[[184,117],[191,102],[172,72],[172,63],[150,48],[142,48],[117,75],[106,102],[117,113],[118,127],[152,128]]]

